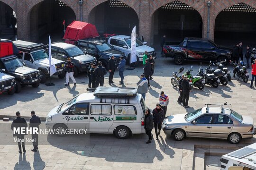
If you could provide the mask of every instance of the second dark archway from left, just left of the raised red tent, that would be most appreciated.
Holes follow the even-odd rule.
[[[64,20],[67,27],[76,20],[72,8],[59,0],[44,0],[34,6],[29,15],[30,39],[32,42],[48,42],[48,34],[52,42],[60,41],[64,35]]]

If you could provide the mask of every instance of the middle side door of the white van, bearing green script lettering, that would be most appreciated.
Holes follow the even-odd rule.
[[[108,133],[113,124],[111,104],[91,104],[90,109],[90,133]]]

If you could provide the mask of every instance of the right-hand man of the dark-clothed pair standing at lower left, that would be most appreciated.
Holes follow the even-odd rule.
[[[36,113],[34,110],[31,111],[31,118],[29,120],[29,127],[37,127],[38,131],[39,131],[39,125],[41,124],[41,120],[38,116],[36,116]],[[38,149],[38,134],[33,133],[32,134],[32,140],[33,140],[33,146],[34,149],[32,149],[31,151],[33,152],[37,152]]]

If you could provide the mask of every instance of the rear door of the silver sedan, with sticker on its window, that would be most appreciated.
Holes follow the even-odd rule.
[[[211,137],[227,138],[234,126],[233,120],[227,115],[216,114],[213,116]]]

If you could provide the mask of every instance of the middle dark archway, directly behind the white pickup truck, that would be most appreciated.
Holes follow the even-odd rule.
[[[118,0],[107,0],[93,8],[89,15],[89,23],[96,26],[99,34],[130,35],[134,26],[138,33],[137,13]]]

